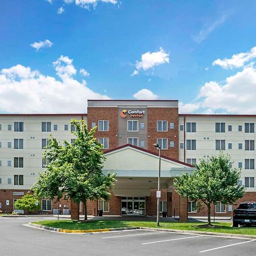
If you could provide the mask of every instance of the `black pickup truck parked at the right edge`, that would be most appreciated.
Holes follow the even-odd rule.
[[[256,225],[256,203],[245,202],[233,210],[233,226]]]

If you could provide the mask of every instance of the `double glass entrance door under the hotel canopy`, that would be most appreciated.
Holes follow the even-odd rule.
[[[122,197],[122,215],[144,215],[145,197]]]

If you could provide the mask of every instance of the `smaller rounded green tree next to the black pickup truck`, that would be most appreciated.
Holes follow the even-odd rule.
[[[174,185],[180,196],[203,201],[208,209],[208,225],[211,225],[211,204],[218,201],[233,204],[245,195],[245,187],[239,184],[240,175],[241,170],[230,166],[230,156],[220,152],[207,160],[200,159],[200,164],[195,164],[195,171],[177,177]]]

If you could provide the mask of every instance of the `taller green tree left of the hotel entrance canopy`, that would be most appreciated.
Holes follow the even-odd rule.
[[[76,136],[73,143],[64,141],[61,145],[52,136],[44,150],[47,170],[39,174],[38,181],[32,187],[35,195],[41,198],[60,200],[72,199],[84,203],[87,220],[86,200],[109,200],[109,190],[113,188],[115,174],[102,174],[104,156],[102,145],[94,138],[97,127],[86,129],[84,120],[71,121],[71,132]]]

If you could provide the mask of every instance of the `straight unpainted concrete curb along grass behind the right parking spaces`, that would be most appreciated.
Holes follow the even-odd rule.
[[[234,237],[234,238],[256,239],[256,236],[253,236],[253,235],[243,235],[243,234],[233,234],[233,233],[217,233],[217,232],[207,232],[207,231],[192,231],[192,230],[182,230],[182,229],[144,228],[144,227],[139,227],[138,229],[154,230],[154,231],[162,231],[162,232],[164,231],[164,232],[186,233],[186,234],[207,234],[209,236],[219,236],[219,237]]]

